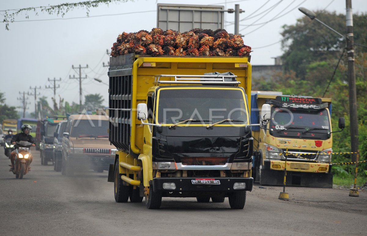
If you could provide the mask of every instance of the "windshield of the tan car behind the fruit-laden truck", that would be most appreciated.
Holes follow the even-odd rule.
[[[75,120],[71,137],[108,137],[108,120]]]

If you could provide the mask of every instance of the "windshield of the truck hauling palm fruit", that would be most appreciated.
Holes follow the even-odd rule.
[[[244,93],[240,89],[162,89],[158,99],[160,124],[176,124],[187,119],[205,124],[224,119],[235,120],[230,121],[234,124],[247,123]]]

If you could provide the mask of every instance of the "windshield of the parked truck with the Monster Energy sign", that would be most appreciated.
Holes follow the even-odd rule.
[[[321,138],[330,132],[326,109],[287,109],[273,106],[270,128],[276,130],[276,137]],[[308,132],[310,131],[310,132]]]

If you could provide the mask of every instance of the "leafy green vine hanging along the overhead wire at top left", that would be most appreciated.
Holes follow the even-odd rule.
[[[100,4],[106,4],[113,2],[127,2],[128,0],[94,0],[94,1],[82,1],[79,3],[62,3],[54,6],[44,6],[44,7],[27,7],[21,8],[17,10],[6,10],[3,11],[2,15],[4,16],[3,22],[5,22],[5,28],[9,30],[9,22],[14,22],[14,18],[18,16],[20,13],[24,13],[26,18],[29,18],[28,12],[32,11],[38,15],[37,10],[41,12],[47,12],[49,15],[56,14],[61,15],[63,17],[68,11],[73,10],[74,8],[82,8],[85,7],[87,11],[87,16],[89,16],[89,10],[91,7],[98,7]]]

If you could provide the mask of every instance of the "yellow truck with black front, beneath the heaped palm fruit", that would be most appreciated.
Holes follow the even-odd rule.
[[[247,57],[127,54],[110,58],[108,75],[116,202],[145,197],[156,209],[162,197],[228,197],[244,207],[253,185]]]

